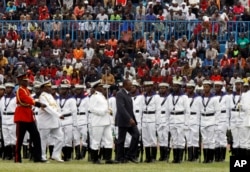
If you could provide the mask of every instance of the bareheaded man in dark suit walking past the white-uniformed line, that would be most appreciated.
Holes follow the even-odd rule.
[[[115,124],[118,126],[117,160],[121,163],[124,163],[127,160],[138,163],[135,157],[139,142],[139,130],[133,112],[133,102],[129,95],[131,87],[131,81],[124,80],[123,88],[116,94],[117,113]],[[124,142],[127,132],[132,138],[129,150],[127,154],[124,155]]]

